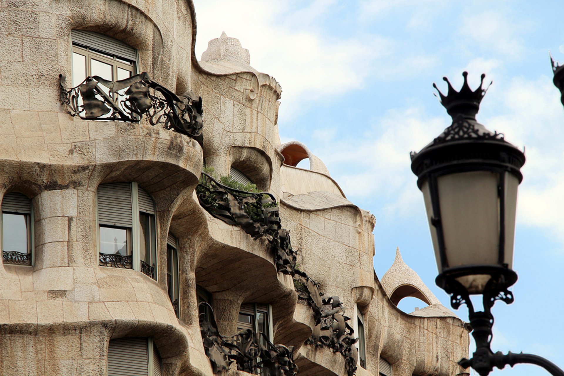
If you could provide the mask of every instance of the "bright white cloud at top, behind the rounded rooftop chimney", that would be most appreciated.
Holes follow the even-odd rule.
[[[362,87],[371,61],[390,43],[385,38],[361,40],[329,36],[315,25],[334,1],[317,0],[299,8],[275,1],[195,1],[196,54],[222,31],[240,39],[250,52],[251,65],[274,76],[283,87],[287,111],[299,100],[315,100]],[[292,11],[289,12],[288,8]],[[249,11],[252,9],[252,12]]]

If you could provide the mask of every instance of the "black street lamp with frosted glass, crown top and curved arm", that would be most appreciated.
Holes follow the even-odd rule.
[[[472,359],[462,359],[482,376],[493,367],[517,363],[543,366],[564,376],[556,365],[542,357],[490,349],[496,300],[513,302],[508,287],[517,281],[512,270],[517,188],[523,176],[525,154],[476,121],[486,93],[468,86],[467,72],[460,91],[448,79],[447,95],[439,92],[452,124],[418,153],[411,154],[411,170],[423,193],[439,275],[437,285],[451,295],[451,306],[466,304],[476,342]],[[470,295],[482,295],[483,311],[476,312]]]

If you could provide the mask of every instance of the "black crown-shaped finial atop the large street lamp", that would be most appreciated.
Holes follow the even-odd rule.
[[[464,83],[462,84],[460,91],[454,90],[451,82],[448,81],[448,78],[443,77],[443,80],[446,81],[448,85],[447,95],[443,95],[437,87],[437,84],[433,82],[433,87],[439,92],[439,95],[436,93],[434,94],[437,97],[440,96],[440,103],[447,109],[447,113],[452,117],[452,120],[454,120],[457,116],[475,119],[476,114],[480,109],[480,102],[493,82],[490,82],[490,85],[488,85],[486,89],[483,89],[482,86],[486,74],[482,74],[480,86],[478,89],[472,91],[470,86],[468,86],[468,72],[463,72],[462,76],[464,76]]]

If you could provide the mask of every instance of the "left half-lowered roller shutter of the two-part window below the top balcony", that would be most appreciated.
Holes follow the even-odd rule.
[[[133,227],[131,183],[98,185],[98,223]]]

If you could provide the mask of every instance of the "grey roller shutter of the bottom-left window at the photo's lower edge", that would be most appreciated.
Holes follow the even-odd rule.
[[[110,340],[108,376],[146,376],[148,374],[147,338]]]

